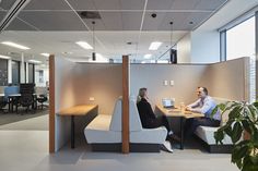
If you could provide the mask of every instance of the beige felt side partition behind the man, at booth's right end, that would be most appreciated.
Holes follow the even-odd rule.
[[[249,58],[209,65],[200,83],[211,96],[249,100]]]

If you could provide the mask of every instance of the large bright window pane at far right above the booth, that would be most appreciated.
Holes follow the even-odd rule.
[[[255,58],[255,16],[226,32],[226,60]]]

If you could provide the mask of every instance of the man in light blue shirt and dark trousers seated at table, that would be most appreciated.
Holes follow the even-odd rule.
[[[186,110],[197,113],[203,113],[202,118],[188,119],[185,124],[185,136],[192,135],[198,126],[220,126],[221,114],[220,111],[211,118],[212,110],[215,108],[216,102],[208,96],[208,89],[206,87],[198,87],[197,89],[198,100],[186,107]]]

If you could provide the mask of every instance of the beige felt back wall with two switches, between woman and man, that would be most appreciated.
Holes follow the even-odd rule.
[[[186,105],[196,99],[196,87],[208,70],[206,64],[131,64],[130,94],[138,95],[140,87],[146,87],[149,100],[154,108],[162,98],[175,98],[176,105]],[[168,85],[164,85],[164,81]],[[174,85],[169,82],[174,81]]]

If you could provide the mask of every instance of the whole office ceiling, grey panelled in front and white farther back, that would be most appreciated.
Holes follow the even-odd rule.
[[[0,20],[13,1],[15,0],[0,2]],[[92,45],[92,20],[80,19],[77,11],[98,11],[102,20],[95,20],[96,52],[113,59],[132,54],[138,60],[145,53],[159,58],[171,45],[171,21],[174,22],[175,44],[208,19],[207,22],[216,17],[233,2],[237,2],[241,9],[227,8],[227,13],[234,15],[239,15],[243,10],[249,10],[258,3],[257,0],[230,0],[216,12],[224,2],[226,0],[31,0],[0,34],[0,41],[9,40],[30,47],[30,50],[24,51],[26,59],[36,58],[46,62],[47,59],[39,54],[42,52],[87,59],[92,50],[84,50],[74,42],[85,40]],[[236,8],[235,3],[234,7]],[[151,17],[152,13],[157,16]],[[219,24],[222,26],[225,19],[220,21],[218,24],[215,20],[211,23],[213,28],[219,28]],[[149,51],[149,46],[154,40],[164,44],[157,51]],[[132,45],[127,45],[129,41]],[[0,51],[14,59],[21,56],[20,50],[1,44]]]

